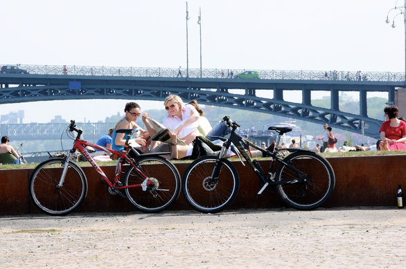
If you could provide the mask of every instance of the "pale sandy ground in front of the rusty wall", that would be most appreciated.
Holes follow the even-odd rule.
[[[405,268],[406,210],[0,217],[0,268]]]

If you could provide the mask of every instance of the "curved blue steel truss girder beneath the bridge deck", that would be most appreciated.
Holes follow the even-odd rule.
[[[213,84],[207,85],[213,86]],[[0,103],[33,102],[46,100],[82,100],[82,99],[136,99],[136,100],[164,100],[169,94],[177,94],[184,100],[197,100],[200,104],[224,106],[233,109],[270,113],[297,120],[306,120],[317,124],[328,124],[338,129],[354,133],[362,133],[364,122],[364,135],[379,138],[378,130],[381,121],[369,118],[365,109],[362,115],[354,115],[338,111],[337,98],[334,98],[335,109],[325,109],[312,106],[308,100],[308,89],[302,87],[306,98],[302,104],[286,102],[283,100],[283,89],[279,88],[276,98],[262,98],[255,94],[254,85],[245,86],[245,94],[229,93],[228,88],[218,84],[215,91],[204,90],[202,87],[191,84],[172,86],[161,84],[159,86],[137,86],[134,84],[84,84],[82,89],[69,89],[66,84],[60,85],[24,85],[12,88],[2,88]],[[258,86],[258,85],[256,85]],[[263,87],[262,87],[263,88]],[[274,87],[276,89],[276,87]],[[333,90],[332,90],[333,91]],[[363,101],[363,100],[361,100]],[[365,101],[366,102],[366,101]]]

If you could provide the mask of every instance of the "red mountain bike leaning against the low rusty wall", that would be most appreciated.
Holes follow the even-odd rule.
[[[76,131],[76,137],[73,134]],[[128,198],[142,212],[155,213],[172,205],[180,191],[180,176],[175,165],[159,155],[139,154],[128,145],[132,133],[138,129],[120,129],[117,133],[127,133],[123,151],[106,149],[81,140],[82,130],[76,128],[75,121],[67,129],[69,138],[74,139],[73,148],[66,157],[50,158],[35,167],[30,176],[29,194],[35,205],[42,212],[52,215],[67,215],[75,210],[87,194],[87,178],[84,171],[73,163],[73,154],[78,150],[96,169],[107,192]],[[118,155],[115,176],[112,181],[90,156],[86,146]],[[129,164],[127,171],[122,172],[123,165]],[[121,183],[121,174],[125,174]],[[125,194],[123,194],[123,191]]]

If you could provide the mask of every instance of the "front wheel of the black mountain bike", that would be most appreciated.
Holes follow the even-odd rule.
[[[197,158],[186,169],[182,178],[182,193],[191,207],[202,213],[216,213],[230,205],[238,194],[240,178],[229,160],[221,159],[219,181],[214,187],[207,183],[215,162],[215,156]]]

